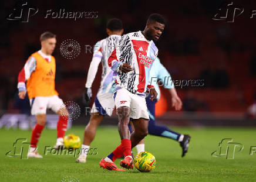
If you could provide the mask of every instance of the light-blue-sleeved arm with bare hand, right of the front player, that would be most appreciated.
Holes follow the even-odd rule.
[[[164,88],[167,88],[171,94],[171,107],[173,107],[176,111],[179,111],[182,108],[182,101],[180,97],[178,97],[177,91],[174,88],[173,81],[171,80],[170,73],[166,70],[163,64],[159,61],[159,69],[157,74],[157,79],[160,80],[161,85]]]

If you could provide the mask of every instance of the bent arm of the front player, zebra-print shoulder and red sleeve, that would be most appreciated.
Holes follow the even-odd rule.
[[[109,56],[108,64],[109,67],[115,71],[119,72],[122,71],[123,73],[127,73],[129,71],[132,71],[133,68],[127,64],[122,63],[120,60],[122,60],[123,54],[129,54],[127,52],[127,48],[129,49],[129,46],[131,47],[132,44],[130,43],[130,38],[128,35],[122,36],[122,39],[120,40],[119,44],[117,44],[116,48],[112,51],[112,54]]]

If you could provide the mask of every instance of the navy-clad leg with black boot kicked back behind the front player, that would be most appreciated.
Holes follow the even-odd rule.
[[[188,150],[188,142],[190,141],[190,136],[171,131],[166,126],[156,125],[156,120],[155,120],[156,101],[151,101],[149,97],[147,97],[146,102],[147,102],[147,109],[149,111],[149,128],[148,128],[149,134],[170,138],[170,139],[176,140],[177,142],[180,142],[180,146],[183,150],[181,156],[183,157]]]

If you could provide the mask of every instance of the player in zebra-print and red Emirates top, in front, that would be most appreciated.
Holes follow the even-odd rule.
[[[113,78],[116,82],[113,99],[119,118],[121,144],[100,161],[100,166],[105,169],[116,170],[114,160],[122,156],[124,159],[121,160],[120,166],[132,169],[131,149],[148,133],[149,113],[144,92],[148,90],[152,100],[157,97],[155,88],[149,85],[149,74],[158,53],[154,41],[163,33],[164,25],[164,18],[161,15],[151,14],[144,31],[122,36],[109,57],[109,67],[114,71]],[[133,119],[134,125],[132,135],[128,127],[130,118]]]

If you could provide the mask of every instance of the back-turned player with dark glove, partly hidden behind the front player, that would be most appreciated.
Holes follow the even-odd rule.
[[[110,19],[107,22],[106,32],[109,36],[95,44],[92,61],[87,74],[85,99],[89,102],[92,98],[92,83],[95,79],[99,63],[102,63],[102,81],[90,111],[90,121],[85,128],[82,150],[80,156],[76,159],[76,162],[79,163],[86,162],[87,152],[89,151],[90,143],[92,143],[95,138],[97,126],[102,122],[105,116],[111,116],[114,109],[114,101],[112,98],[114,89],[114,85],[112,84],[113,71],[109,68],[107,59],[123,34],[122,21],[116,18]]]

